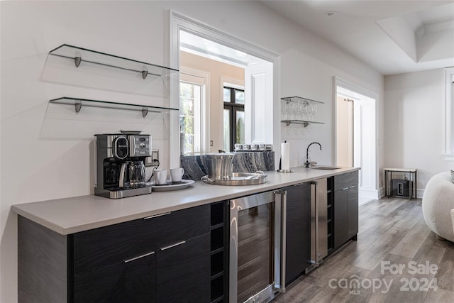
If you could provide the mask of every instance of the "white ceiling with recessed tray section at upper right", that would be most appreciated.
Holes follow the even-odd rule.
[[[454,66],[454,0],[262,3],[382,75]]]

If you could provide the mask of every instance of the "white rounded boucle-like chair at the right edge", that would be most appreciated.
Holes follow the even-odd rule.
[[[450,172],[441,172],[428,180],[422,207],[428,228],[441,238],[454,242],[454,219],[451,218],[451,209],[454,209],[454,183]]]

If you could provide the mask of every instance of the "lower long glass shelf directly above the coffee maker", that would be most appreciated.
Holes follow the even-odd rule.
[[[145,116],[147,116],[148,112],[162,113],[165,111],[178,111],[178,109],[174,109],[174,108],[170,108],[170,107],[126,104],[126,103],[80,99],[80,98],[72,98],[72,97],[62,97],[62,98],[52,99],[49,102],[53,103],[53,104],[73,105],[74,110],[77,113],[82,108],[82,105],[83,106],[92,106],[92,107],[102,107],[102,108],[106,108],[106,109],[126,109],[129,111],[142,111],[143,118],[145,118]]]

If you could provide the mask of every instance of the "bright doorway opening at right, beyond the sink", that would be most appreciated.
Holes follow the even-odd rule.
[[[336,78],[336,165],[361,167],[359,203],[379,199],[377,94]]]

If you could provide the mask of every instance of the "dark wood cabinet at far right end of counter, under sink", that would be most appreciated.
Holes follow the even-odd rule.
[[[358,172],[336,175],[334,178],[333,238],[334,249],[358,233]]]

